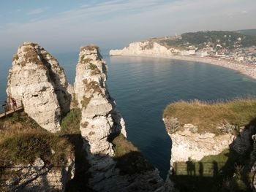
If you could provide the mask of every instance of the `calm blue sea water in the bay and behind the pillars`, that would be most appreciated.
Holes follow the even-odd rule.
[[[170,138],[162,123],[166,105],[178,100],[205,101],[256,96],[256,81],[220,66],[164,58],[109,57],[108,88],[124,116],[127,136],[148,161],[166,177],[170,166]],[[53,54],[75,80],[78,53]],[[1,61],[0,100],[10,62]]]

